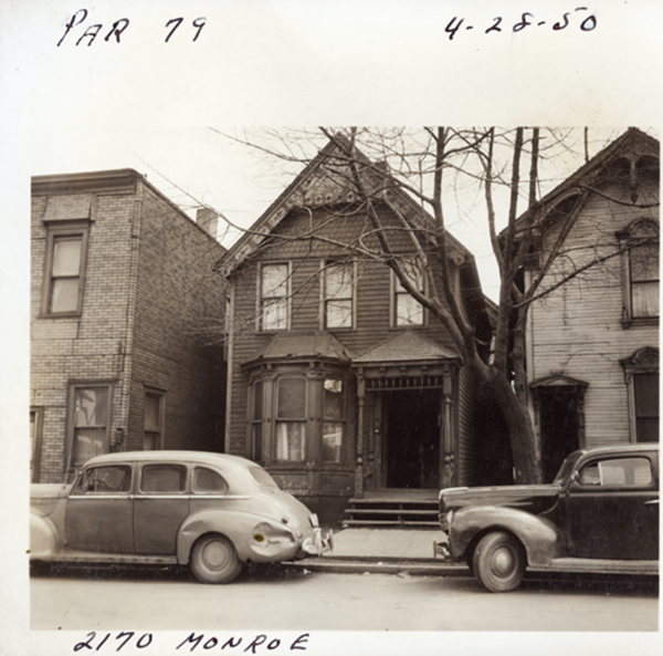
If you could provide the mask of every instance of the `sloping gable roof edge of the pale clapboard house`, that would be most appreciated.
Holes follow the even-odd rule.
[[[583,164],[573,174],[557,185],[551,191],[546,194],[537,204],[540,206],[552,206],[567,195],[578,192],[580,188],[589,187],[600,183],[606,173],[606,167],[615,162],[620,157],[633,150],[644,155],[660,157],[661,144],[659,139],[643,133],[636,127],[629,127],[620,137],[611,142],[602,150],[597,153],[589,162]],[[525,211],[516,220],[516,229],[523,223],[529,215],[529,210]],[[502,231],[504,235],[506,229]]]

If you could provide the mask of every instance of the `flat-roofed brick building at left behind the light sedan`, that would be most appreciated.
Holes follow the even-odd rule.
[[[215,219],[211,218],[215,231]],[[32,178],[32,480],[114,450],[222,450],[225,252],[130,169]]]

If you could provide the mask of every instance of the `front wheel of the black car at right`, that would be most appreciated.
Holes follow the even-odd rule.
[[[484,535],[474,550],[474,574],[491,592],[509,592],[523,581],[525,550],[511,533],[494,531]]]

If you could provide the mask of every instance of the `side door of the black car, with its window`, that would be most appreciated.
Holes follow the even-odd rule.
[[[596,457],[578,470],[566,498],[569,555],[657,560],[655,454]]]

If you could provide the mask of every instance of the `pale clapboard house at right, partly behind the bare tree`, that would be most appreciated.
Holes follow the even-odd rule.
[[[529,310],[546,481],[573,449],[659,440],[659,142],[630,128],[541,201],[543,252],[564,243],[544,288],[604,259]]]

